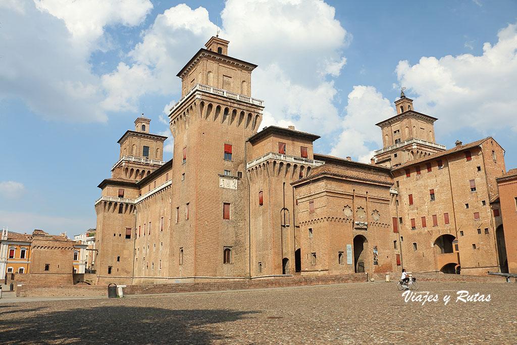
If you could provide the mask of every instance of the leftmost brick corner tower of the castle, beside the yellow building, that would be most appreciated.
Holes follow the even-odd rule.
[[[140,196],[138,181],[157,170],[167,137],[149,133],[150,119],[143,116],[118,140],[119,160],[112,177],[98,187],[101,197],[95,202],[97,213],[95,270],[98,283],[130,283],[133,275],[135,239],[135,203]]]

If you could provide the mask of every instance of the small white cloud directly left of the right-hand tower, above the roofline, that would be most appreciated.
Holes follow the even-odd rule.
[[[341,122],[342,132],[330,155],[358,157],[359,161],[369,163],[373,152],[368,143],[382,147],[381,130],[372,124],[394,116],[395,110],[375,87],[357,85],[348,94],[345,111],[346,115]]]

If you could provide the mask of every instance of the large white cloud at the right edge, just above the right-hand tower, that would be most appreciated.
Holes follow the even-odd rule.
[[[497,36],[494,46],[484,43],[480,56],[422,57],[413,66],[399,62],[401,85],[418,94],[415,110],[439,118],[437,132],[464,127],[484,134],[507,127],[517,131],[517,25]]]

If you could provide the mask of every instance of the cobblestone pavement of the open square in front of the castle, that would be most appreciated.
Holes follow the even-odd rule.
[[[457,292],[489,302],[455,302]],[[517,284],[395,283],[0,305],[0,343],[517,343]],[[444,305],[443,298],[451,299]]]

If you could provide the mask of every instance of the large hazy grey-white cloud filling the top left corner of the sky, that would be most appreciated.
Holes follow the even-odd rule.
[[[135,25],[147,0],[2,2],[0,100],[20,98],[47,119],[105,121],[104,91],[89,59],[106,25]],[[20,42],[23,42],[21,44]],[[105,107],[102,107],[104,104]]]

